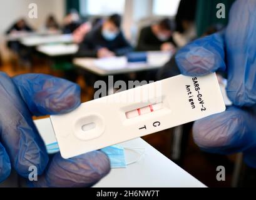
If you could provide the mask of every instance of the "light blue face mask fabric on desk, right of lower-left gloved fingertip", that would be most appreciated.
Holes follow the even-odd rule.
[[[126,168],[125,149],[119,145],[101,149],[110,159],[111,168]]]

